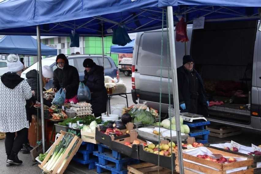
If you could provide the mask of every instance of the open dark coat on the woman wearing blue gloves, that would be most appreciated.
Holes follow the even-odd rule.
[[[206,104],[206,95],[205,95],[205,88],[204,88],[204,83],[199,75],[199,73],[193,69],[195,72],[195,75],[198,78],[198,93],[199,97],[197,100],[197,110],[198,113],[195,114],[201,114],[201,115],[208,115],[208,107]],[[177,68],[177,78],[178,78],[178,91],[179,91],[179,102],[185,103],[186,109],[182,110],[182,112],[188,112],[188,109],[190,107],[190,91],[189,91],[189,80],[187,77],[187,73],[185,72],[184,66],[180,66]]]

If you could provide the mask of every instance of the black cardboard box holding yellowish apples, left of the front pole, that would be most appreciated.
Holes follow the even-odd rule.
[[[168,144],[168,140],[161,140],[161,143],[163,144]],[[152,163],[154,165],[159,165],[164,168],[172,169],[172,164],[173,164],[173,169],[175,169],[175,160],[176,156],[175,153],[172,153],[171,157],[169,156],[163,156],[163,155],[158,155],[155,153],[148,152],[144,150],[145,146],[142,144],[139,144],[139,159],[142,161],[146,161],[149,163]],[[159,163],[158,163],[158,157]],[[172,158],[172,160],[171,160]],[[173,161],[173,163],[172,163]]]

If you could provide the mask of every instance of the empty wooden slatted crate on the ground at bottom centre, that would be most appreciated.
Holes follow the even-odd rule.
[[[128,174],[171,174],[171,170],[167,168],[163,168],[151,163],[140,163],[140,164],[134,164],[134,165],[128,165],[127,166]],[[158,172],[159,170],[159,172]],[[177,174],[177,172],[173,171],[174,174]]]

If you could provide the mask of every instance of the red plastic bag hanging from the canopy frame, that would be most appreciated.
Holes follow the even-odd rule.
[[[187,42],[187,23],[184,21],[184,17],[176,24],[176,41]]]

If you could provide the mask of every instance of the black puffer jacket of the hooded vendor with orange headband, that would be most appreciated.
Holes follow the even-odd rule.
[[[78,70],[74,66],[69,65],[68,59],[65,60],[63,69],[56,68],[54,70],[52,88],[56,88],[57,91],[60,88],[65,88],[66,99],[77,95],[79,82]]]

